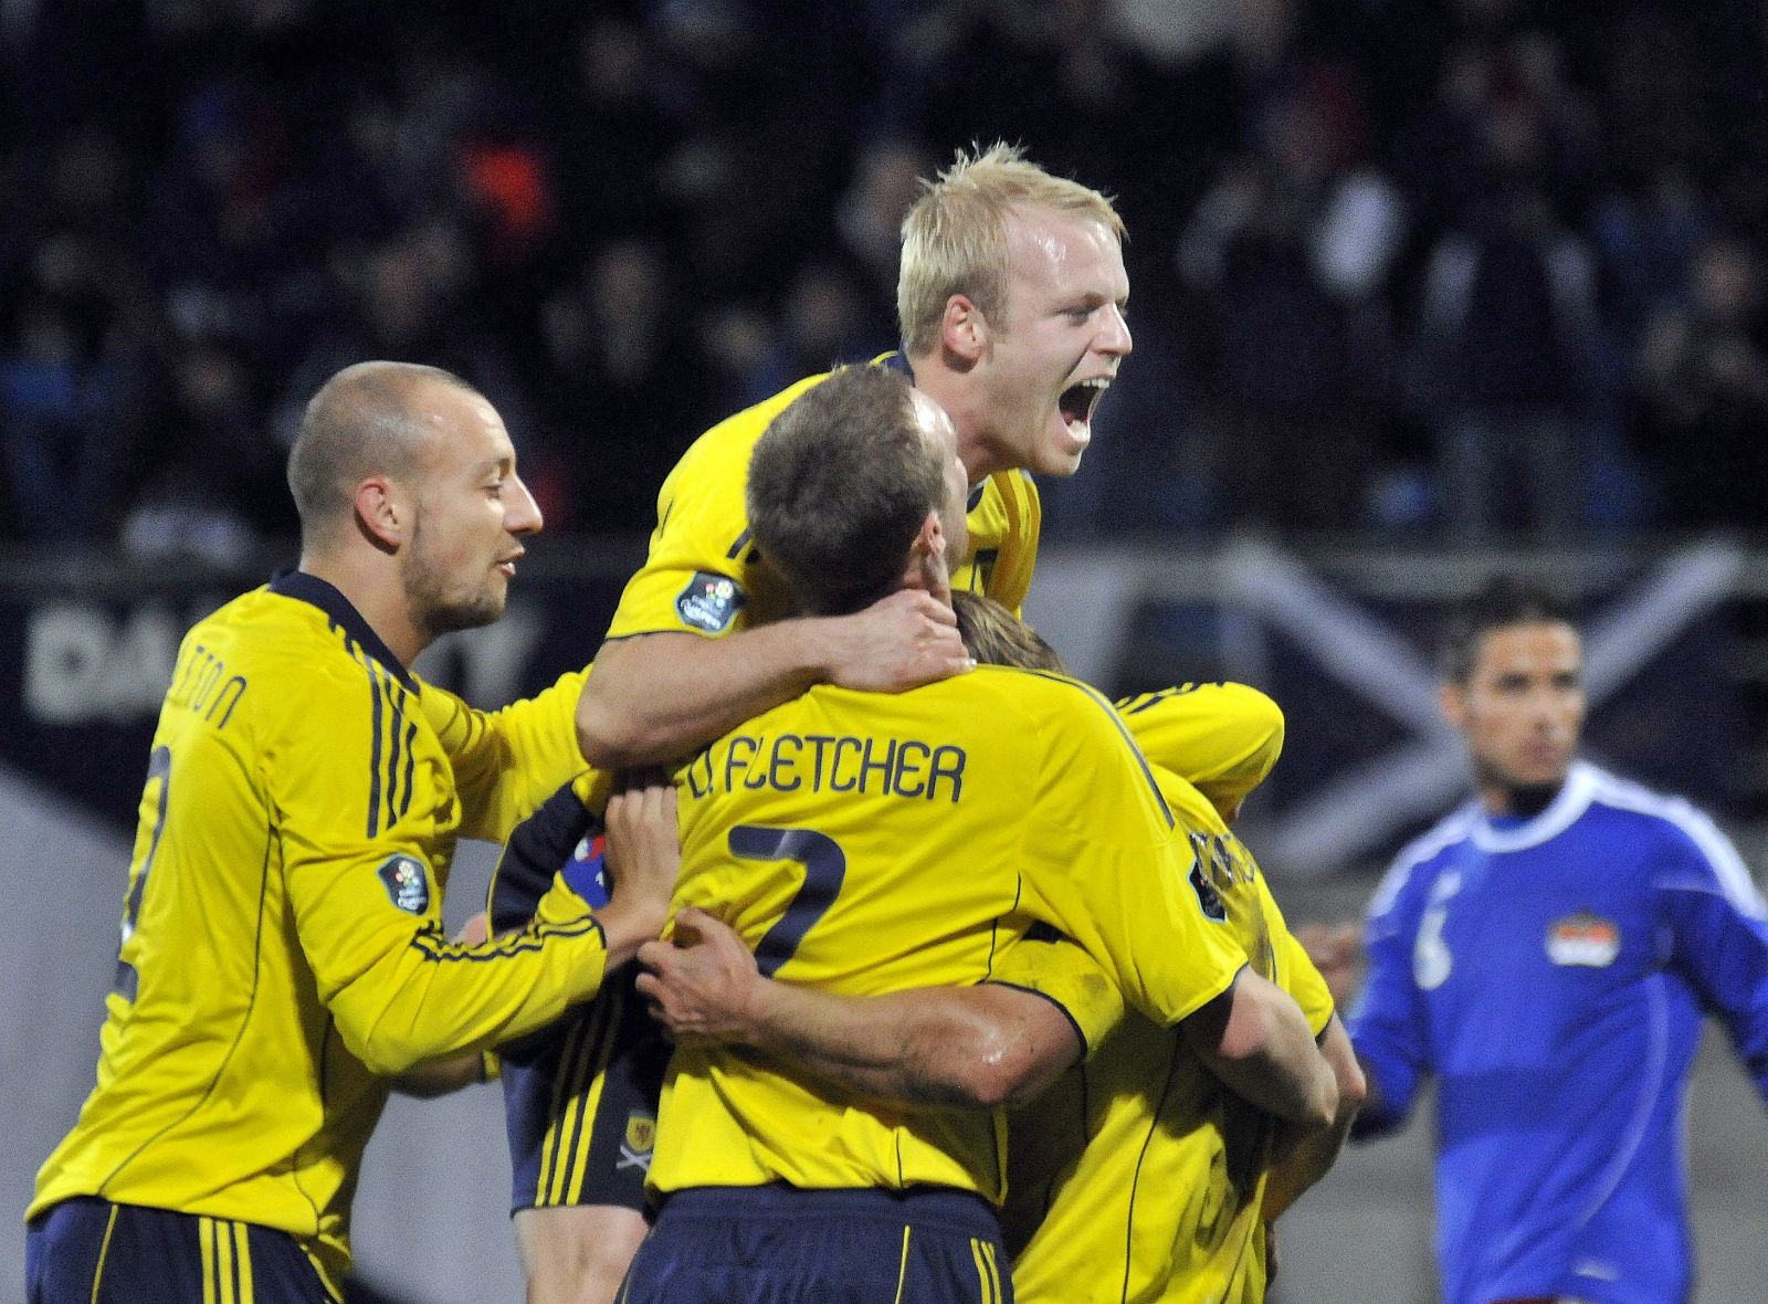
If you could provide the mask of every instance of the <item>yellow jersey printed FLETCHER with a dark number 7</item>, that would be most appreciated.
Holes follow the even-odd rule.
[[[1176,1023],[1245,965],[1204,915],[1192,841],[1093,689],[983,666],[903,694],[820,686],[720,739],[681,779],[675,905],[767,974],[847,995],[987,981],[1033,922]],[[891,1110],[780,1062],[686,1046],[651,1180],[1002,1193],[997,1118]]]

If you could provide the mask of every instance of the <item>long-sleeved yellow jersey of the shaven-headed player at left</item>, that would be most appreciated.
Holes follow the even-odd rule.
[[[479,947],[440,915],[456,836],[506,836],[583,769],[582,684],[470,710],[299,572],[202,620],[154,733],[97,1087],[28,1216],[95,1194],[258,1223],[336,1288],[377,1073],[599,986],[601,931],[569,891]]]

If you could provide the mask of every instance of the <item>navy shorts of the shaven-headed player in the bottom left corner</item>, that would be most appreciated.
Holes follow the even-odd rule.
[[[339,1304],[286,1232],[64,1200],[25,1233],[28,1304]]]

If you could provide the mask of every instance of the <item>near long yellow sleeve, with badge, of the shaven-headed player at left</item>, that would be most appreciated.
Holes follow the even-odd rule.
[[[361,693],[311,694],[263,751],[263,779],[318,998],[345,1046],[389,1074],[550,1023],[601,986],[606,945],[562,882],[523,931],[474,947],[447,942],[426,853],[446,776],[419,776],[431,785],[424,800],[371,830],[361,781],[370,709]]]

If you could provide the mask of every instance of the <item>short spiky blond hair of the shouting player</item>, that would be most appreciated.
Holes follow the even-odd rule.
[[[999,322],[1010,270],[1006,219],[1022,208],[1103,223],[1119,240],[1126,237],[1109,198],[1052,177],[1022,147],[997,141],[974,154],[958,150],[949,168],[921,182],[921,198],[902,219],[896,320],[911,357],[934,352],[951,295],[965,295]]]

